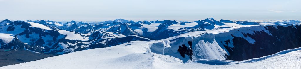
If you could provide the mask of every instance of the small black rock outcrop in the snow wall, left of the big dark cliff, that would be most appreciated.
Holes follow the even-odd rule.
[[[188,41],[189,47],[185,46],[185,44],[182,44],[182,46],[179,46],[178,52],[180,52],[181,56],[185,58],[185,54],[189,56],[190,60],[192,59],[192,42]]]

